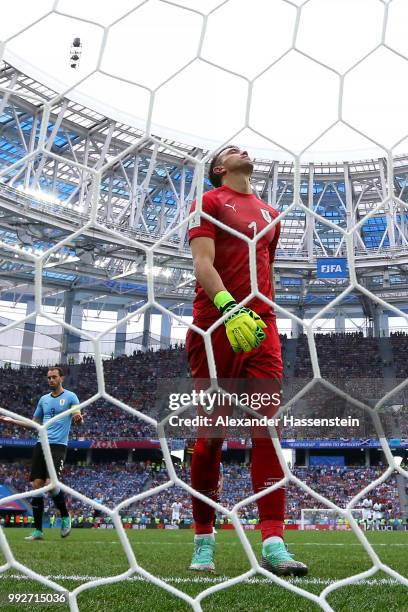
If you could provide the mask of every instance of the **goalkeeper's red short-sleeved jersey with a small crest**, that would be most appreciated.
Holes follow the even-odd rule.
[[[192,211],[195,210],[195,204],[194,201]],[[279,214],[277,210],[255,195],[234,191],[226,185],[203,195],[203,211],[249,238],[259,234]],[[275,257],[279,234],[280,223],[277,223],[256,243],[258,289],[269,299],[272,298],[270,267]],[[191,242],[193,238],[199,236],[214,239],[214,267],[221,276],[227,291],[237,302],[240,302],[251,293],[249,246],[241,238],[233,236],[230,232],[197,215],[190,221],[188,238]],[[272,313],[272,308],[259,298],[253,298],[246,306],[260,315]],[[193,304],[194,319],[210,323],[219,316],[217,308],[204,289],[196,283],[196,296]]]

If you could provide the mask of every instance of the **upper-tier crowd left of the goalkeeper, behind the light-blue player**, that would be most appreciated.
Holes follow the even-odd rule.
[[[186,353],[183,347],[135,352],[103,362],[106,391],[114,398],[149,416],[157,415],[157,389],[168,390],[168,381],[186,378]],[[46,369],[0,368],[0,406],[17,414],[31,417],[38,399],[47,393]],[[75,391],[80,401],[98,391],[93,358],[78,366],[70,366],[65,385]],[[136,416],[130,415],[111,402],[98,399],[85,411],[85,423],[72,427],[73,439],[130,439],[157,437],[154,429]],[[29,429],[1,425],[0,437],[27,438],[35,433]]]

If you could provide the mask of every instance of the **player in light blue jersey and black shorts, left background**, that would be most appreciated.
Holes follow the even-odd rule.
[[[61,414],[79,404],[79,399],[75,393],[63,388],[62,384],[64,382],[64,372],[61,368],[50,368],[47,372],[47,380],[51,392],[43,395],[40,398],[33,416],[33,421],[41,425],[55,417],[57,414]],[[74,421],[74,423],[77,425],[81,425],[84,422],[83,416],[79,409],[77,412],[69,413],[64,417],[61,417],[55,421],[55,423],[52,423],[52,425],[50,425],[47,429],[51,456],[58,479],[60,478],[62,469],[64,467],[64,461],[67,454],[68,436],[72,421]],[[0,422],[7,423],[8,425],[11,424],[21,427],[29,427],[29,425],[22,423],[18,419],[13,419],[6,416],[0,416]],[[45,484],[50,482],[41,442],[37,442],[34,447],[30,481],[34,490],[40,489]],[[69,516],[69,512],[67,510],[64,493],[61,489],[57,488],[52,490],[51,495],[55,507],[61,514],[61,537],[66,538],[71,531],[71,517]],[[34,496],[31,501],[31,505],[34,516],[34,531],[25,539],[42,540],[44,496]]]

